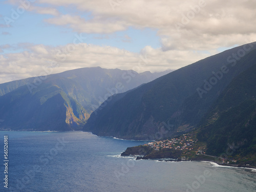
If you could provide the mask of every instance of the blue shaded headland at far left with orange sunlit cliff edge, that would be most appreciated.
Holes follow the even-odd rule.
[[[89,118],[79,103],[51,84],[33,93],[20,87],[0,98],[0,108],[2,130],[76,130]]]

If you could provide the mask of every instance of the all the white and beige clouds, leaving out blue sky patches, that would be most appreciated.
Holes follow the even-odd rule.
[[[41,67],[48,65],[47,60],[58,61],[54,73],[93,66],[133,68],[138,72],[178,69],[209,56],[206,51],[216,54],[219,48],[243,45],[256,39],[254,0],[113,1],[117,3],[111,6],[109,0],[37,0],[29,10],[51,14],[51,18],[45,19],[46,23],[79,33],[97,33],[98,38],[108,38],[111,33],[129,27],[156,29],[161,48],[153,49],[149,43],[142,49],[146,62],[142,62],[140,54],[114,47],[80,44],[70,52],[67,50],[72,45],[56,48],[19,45],[25,46],[29,52],[0,55],[0,71],[3,70],[0,82],[37,76]],[[19,5],[19,0],[9,2]],[[61,15],[59,7],[61,10],[66,8],[67,12],[63,11],[65,14]],[[72,11],[68,12],[69,9]],[[91,15],[83,17],[81,13]],[[129,41],[130,38],[124,36],[123,40]],[[3,76],[4,72],[9,75]]]

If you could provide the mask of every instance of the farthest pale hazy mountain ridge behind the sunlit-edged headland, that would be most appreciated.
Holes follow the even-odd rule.
[[[123,93],[167,73],[168,71],[139,74],[132,70],[102,69],[100,67],[81,68],[48,75],[47,77],[33,77],[0,84],[0,96],[26,84],[28,89],[33,91],[37,88],[40,89],[40,86],[44,83],[50,82],[77,100],[87,111],[93,112],[110,96],[109,93]],[[116,89],[117,85],[120,89]]]

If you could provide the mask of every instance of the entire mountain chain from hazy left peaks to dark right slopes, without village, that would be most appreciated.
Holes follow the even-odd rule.
[[[0,128],[150,140],[195,131],[207,154],[232,144],[255,162],[256,43],[166,73],[82,68],[0,84]]]

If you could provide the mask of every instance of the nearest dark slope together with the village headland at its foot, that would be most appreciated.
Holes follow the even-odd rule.
[[[220,165],[256,168],[255,55],[256,51],[247,56],[253,65],[232,79],[193,131],[128,147],[122,155],[143,156],[137,159],[168,158],[161,161],[211,161]]]

